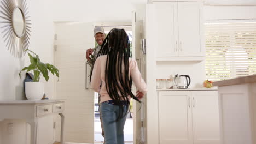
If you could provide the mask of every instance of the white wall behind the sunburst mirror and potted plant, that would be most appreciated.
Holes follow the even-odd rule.
[[[51,0],[26,1],[28,4],[29,15],[31,16],[32,33],[30,37],[30,47],[32,51],[39,55],[41,61],[45,63],[53,63],[53,43],[54,43],[54,27],[53,27],[53,4]],[[0,18],[0,21],[2,19]],[[21,100],[25,99],[23,93],[23,78],[18,77],[19,71],[29,64],[27,55],[23,58],[15,58],[10,55],[0,34],[0,100]],[[25,73],[24,73],[25,74]],[[53,76],[45,82],[45,93],[47,97],[53,97]],[[42,79],[42,81],[44,81]],[[1,121],[1,120],[0,120]],[[49,120],[50,121],[50,120]],[[52,121],[52,120],[51,120]],[[6,127],[9,121],[0,122],[0,143],[16,144],[24,143],[26,133],[24,132],[26,124],[24,122],[14,122],[14,134],[8,135],[6,131],[1,130]],[[1,134],[3,137],[1,137]],[[10,139],[9,139],[9,138]],[[15,137],[15,139],[14,139]],[[2,140],[2,141],[1,141]],[[7,142],[8,141],[8,142]]]

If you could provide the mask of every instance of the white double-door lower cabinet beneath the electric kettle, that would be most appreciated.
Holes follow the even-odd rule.
[[[159,143],[218,144],[217,91],[159,91]]]

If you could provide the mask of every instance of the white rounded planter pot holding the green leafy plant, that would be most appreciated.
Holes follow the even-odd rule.
[[[44,83],[26,82],[25,94],[28,100],[41,100],[44,96]]]

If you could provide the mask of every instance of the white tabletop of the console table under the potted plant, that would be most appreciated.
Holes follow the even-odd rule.
[[[0,100],[1,104],[45,104],[63,102],[63,99],[45,99],[45,100]]]

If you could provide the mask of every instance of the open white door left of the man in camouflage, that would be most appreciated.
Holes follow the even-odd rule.
[[[89,83],[86,71],[90,70],[86,70],[85,59],[86,49],[94,47],[94,25],[64,23],[55,28],[56,67],[60,71],[56,98],[66,99],[64,141],[94,143],[94,92],[86,89]],[[56,124],[59,123],[57,118]],[[56,138],[59,137],[57,126]]]

